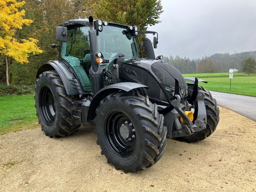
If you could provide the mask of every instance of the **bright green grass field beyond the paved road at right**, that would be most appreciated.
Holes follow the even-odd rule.
[[[234,93],[240,95],[249,95],[256,97],[256,74],[246,75],[234,73],[231,79],[231,91],[229,90],[229,73],[201,73],[201,74],[183,74],[184,77],[197,77],[208,81],[207,84],[199,82],[199,86],[205,89],[217,92]]]

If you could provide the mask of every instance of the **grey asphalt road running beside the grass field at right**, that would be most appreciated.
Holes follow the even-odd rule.
[[[210,91],[218,105],[256,121],[256,97]]]

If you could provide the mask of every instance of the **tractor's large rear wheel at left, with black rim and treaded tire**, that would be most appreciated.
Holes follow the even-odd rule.
[[[77,131],[80,124],[73,122],[71,110],[79,97],[68,96],[56,71],[40,74],[35,91],[36,116],[45,135],[65,137]]]

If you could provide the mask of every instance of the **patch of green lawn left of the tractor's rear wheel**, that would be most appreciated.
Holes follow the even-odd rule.
[[[0,135],[35,127],[34,95],[0,96]]]

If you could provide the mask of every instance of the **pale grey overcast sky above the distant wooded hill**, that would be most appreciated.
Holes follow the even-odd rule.
[[[156,56],[256,50],[256,0],[162,0]],[[153,40],[152,36],[148,36]]]

